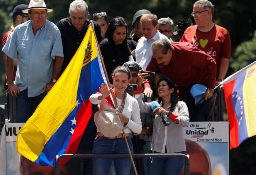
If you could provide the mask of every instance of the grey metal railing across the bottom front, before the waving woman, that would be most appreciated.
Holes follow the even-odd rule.
[[[133,158],[173,158],[185,159],[184,175],[189,175],[189,155],[185,154],[133,154]],[[56,174],[60,175],[60,160],[62,158],[130,158],[129,154],[63,154],[56,156]]]

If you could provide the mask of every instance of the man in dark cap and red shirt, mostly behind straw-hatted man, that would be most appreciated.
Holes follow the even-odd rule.
[[[28,14],[22,12],[22,10],[25,10],[28,8],[29,8],[28,5],[20,4],[20,5],[17,5],[14,8],[14,10],[12,11],[13,24],[3,36],[2,48],[4,47],[4,44],[6,43],[6,41],[10,38],[12,32],[14,31],[14,28],[16,26],[18,26],[19,24],[25,23],[27,20],[29,20]],[[7,55],[4,52],[3,52],[3,59],[4,59],[4,65],[6,66]],[[17,71],[17,65],[18,65],[18,59],[15,59],[14,71],[13,71],[13,79],[14,80],[15,80],[15,75],[16,75],[16,71]],[[8,89],[8,86],[6,85],[6,79],[7,79],[7,77],[5,77],[4,88]]]

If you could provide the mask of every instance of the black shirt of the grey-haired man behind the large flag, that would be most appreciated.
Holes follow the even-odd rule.
[[[73,56],[76,53],[76,50],[82,43],[82,40],[87,32],[90,21],[86,20],[84,27],[81,31],[78,31],[73,25],[70,18],[61,19],[56,25],[60,30],[63,52],[64,52],[64,61],[61,73],[68,66],[68,63],[71,61]],[[98,43],[101,42],[101,27],[95,21],[92,21],[94,25],[95,34],[98,40]]]

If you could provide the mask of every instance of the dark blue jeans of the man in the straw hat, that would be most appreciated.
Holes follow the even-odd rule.
[[[16,123],[25,123],[35,112],[37,106],[46,96],[46,92],[35,97],[27,97],[27,89],[16,97]]]

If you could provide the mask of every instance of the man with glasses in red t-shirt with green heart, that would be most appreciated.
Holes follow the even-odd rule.
[[[208,0],[196,1],[191,15],[196,25],[188,27],[180,42],[190,42],[215,59],[217,65],[216,79],[220,83],[225,79],[229,67],[231,41],[226,28],[212,22],[214,5]],[[210,102],[208,119],[213,118],[216,93]]]

